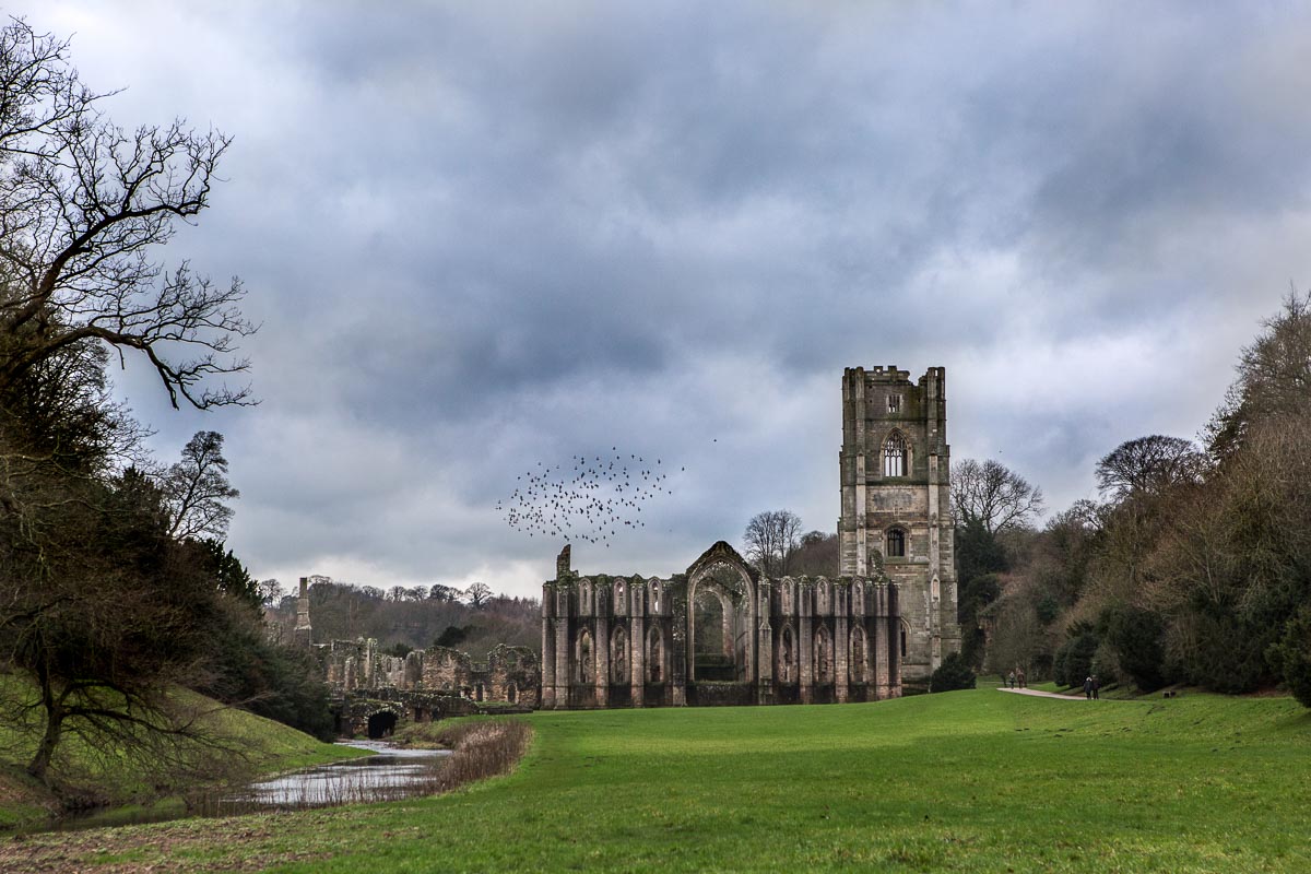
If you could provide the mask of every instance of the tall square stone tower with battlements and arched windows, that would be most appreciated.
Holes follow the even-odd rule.
[[[848,367],[842,376],[840,573],[880,567],[901,591],[902,680],[927,683],[960,650],[956,621],[947,370],[919,383],[897,367]]]

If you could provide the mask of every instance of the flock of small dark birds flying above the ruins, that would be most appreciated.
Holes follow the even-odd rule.
[[[640,455],[572,457],[572,469],[557,464],[538,466],[515,480],[519,485],[496,508],[505,522],[530,537],[562,537],[606,544],[625,528],[645,528],[642,504],[659,494],[674,494],[663,461],[650,464]]]

